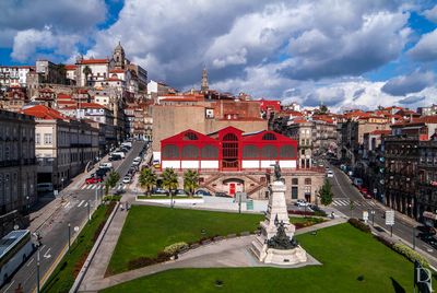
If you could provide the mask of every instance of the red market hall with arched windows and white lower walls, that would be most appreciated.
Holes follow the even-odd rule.
[[[265,171],[276,161],[281,168],[295,169],[297,141],[274,131],[244,133],[237,128],[226,127],[205,136],[188,129],[161,141],[162,168]]]

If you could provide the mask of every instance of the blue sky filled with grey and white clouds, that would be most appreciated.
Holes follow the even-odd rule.
[[[437,104],[437,1],[3,0],[0,65],[128,59],[179,90],[333,110]]]

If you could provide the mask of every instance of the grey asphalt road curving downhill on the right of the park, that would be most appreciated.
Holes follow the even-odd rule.
[[[377,203],[373,199],[365,199],[342,171],[336,167],[332,167],[332,171],[334,172],[334,177],[329,178],[332,184],[332,192],[334,194],[331,207],[347,216],[358,219],[363,219],[363,212],[367,211],[369,214],[369,223],[373,224],[374,221],[378,231],[390,235],[390,226],[386,226],[386,220],[382,218],[385,211],[390,210],[390,208]],[[351,200],[354,202],[354,209],[352,211]],[[370,213],[371,211],[375,211],[374,216]],[[437,258],[436,249],[415,237],[414,234],[417,234],[418,231],[414,231],[413,225],[410,222],[411,220],[405,221],[402,216],[397,215],[393,225],[393,234],[402,238],[408,245],[411,245],[414,238],[416,247]],[[437,266],[436,261],[432,260],[430,262],[434,267]]]

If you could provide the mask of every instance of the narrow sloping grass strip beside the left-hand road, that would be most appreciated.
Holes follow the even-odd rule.
[[[79,234],[78,238],[71,244],[70,253],[67,253],[58,267],[56,267],[42,289],[42,292],[70,291],[76,274],[93,248],[94,242],[113,211],[113,208],[114,203],[101,206],[94,212],[91,222],[83,227],[81,234]]]

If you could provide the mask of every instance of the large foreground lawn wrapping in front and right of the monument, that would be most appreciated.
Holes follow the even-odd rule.
[[[297,239],[323,265],[299,269],[177,269],[103,292],[413,292],[413,263],[347,223]],[[223,286],[216,286],[216,280],[223,281]]]

